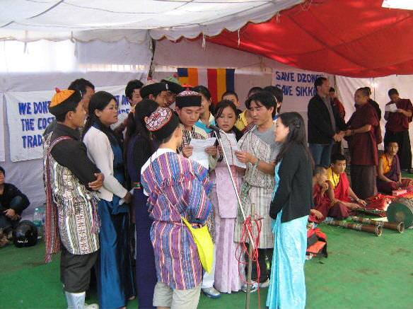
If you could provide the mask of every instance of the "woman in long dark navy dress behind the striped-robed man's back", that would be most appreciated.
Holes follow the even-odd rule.
[[[158,108],[158,103],[144,99],[135,107],[134,126],[127,132],[130,136],[126,148],[127,172],[132,182],[134,194],[132,204],[135,214],[136,228],[136,291],[139,308],[153,308],[153,289],[156,285],[155,257],[150,238],[153,220],[149,217],[148,197],[141,187],[142,165],[156,151],[157,143],[146,129],[145,119]]]

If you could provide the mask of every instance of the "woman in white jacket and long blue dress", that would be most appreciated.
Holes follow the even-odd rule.
[[[117,101],[105,91],[89,103],[83,142],[91,161],[105,175],[98,196],[100,257],[97,262],[100,308],[124,308],[135,295],[129,250],[129,204],[132,194],[124,188],[124,163],[120,141],[110,125],[117,122]],[[124,203],[120,203],[123,199]]]

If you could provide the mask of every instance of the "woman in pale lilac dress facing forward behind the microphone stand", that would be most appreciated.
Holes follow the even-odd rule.
[[[237,120],[237,107],[230,100],[222,100],[216,105],[216,122],[226,134],[221,134],[221,142],[231,149],[231,141],[236,144],[243,134],[235,127]],[[224,148],[226,148],[224,146]],[[234,149],[235,150],[235,149]],[[231,173],[240,190],[242,174],[238,171],[236,157],[232,151],[227,151],[228,163]],[[220,147],[218,163],[214,170],[209,172],[209,179],[213,183],[209,199],[214,205],[216,266],[214,286],[221,293],[238,292],[242,285],[239,265],[237,260],[237,247],[234,241],[235,218],[238,214],[238,200],[233,190],[231,177],[228,173],[226,162],[223,159],[223,149]]]

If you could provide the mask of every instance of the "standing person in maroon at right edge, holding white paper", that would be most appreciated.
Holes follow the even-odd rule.
[[[388,91],[390,102],[385,105],[384,144],[397,141],[399,145],[400,168],[412,173],[412,149],[410,148],[409,123],[412,122],[413,105],[409,99],[399,98],[395,88]]]

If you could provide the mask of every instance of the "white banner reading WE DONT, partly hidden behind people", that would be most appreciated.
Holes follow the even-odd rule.
[[[119,102],[119,113],[124,114],[130,110],[124,88],[124,85],[97,87],[96,91],[115,95]],[[53,95],[54,91],[5,93],[11,161],[42,158],[42,134],[54,119],[48,110]]]

